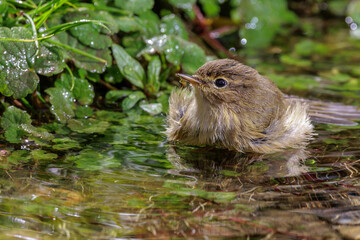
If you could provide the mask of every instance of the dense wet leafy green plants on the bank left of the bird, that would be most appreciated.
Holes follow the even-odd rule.
[[[20,99],[17,107],[29,112],[36,107],[30,102],[42,102],[50,105],[55,120],[68,122],[72,130],[98,131],[94,123],[87,128],[83,120],[70,120],[92,115],[87,106],[99,84],[112,90],[107,96],[113,96],[112,103],[120,100],[123,111],[138,108],[159,114],[166,107],[156,101],[157,95],[162,89],[169,93],[164,80],[181,67],[192,73],[205,62],[203,50],[188,42],[182,20],[174,14],[160,19],[151,11],[154,1],[93,3],[1,1],[0,93],[6,99]],[[151,51],[157,38],[166,44]],[[186,44],[201,57],[189,58],[189,51],[180,49]],[[25,111],[4,107],[1,126],[9,142],[46,132],[31,127]]]

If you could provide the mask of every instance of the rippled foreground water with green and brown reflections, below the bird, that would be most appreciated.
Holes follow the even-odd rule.
[[[130,124],[57,159],[0,158],[0,239],[341,239],[359,224],[358,131],[260,155],[169,147],[163,119]]]

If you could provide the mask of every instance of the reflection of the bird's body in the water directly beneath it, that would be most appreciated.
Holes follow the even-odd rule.
[[[168,160],[182,171],[198,171],[202,176],[212,178],[222,170],[246,175],[251,166],[262,164],[268,177],[298,176],[308,171],[304,160],[305,149],[292,149],[275,154],[239,153],[220,148],[195,148],[172,146],[167,152]]]

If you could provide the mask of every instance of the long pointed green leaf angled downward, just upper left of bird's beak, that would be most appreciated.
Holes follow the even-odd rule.
[[[112,45],[112,50],[117,66],[125,78],[135,86],[144,88],[145,71],[141,64],[117,44]]]

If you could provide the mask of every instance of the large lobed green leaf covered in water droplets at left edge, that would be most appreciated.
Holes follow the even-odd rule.
[[[22,27],[1,27],[0,38],[0,92],[5,96],[23,98],[32,93],[39,82],[36,73],[51,76],[65,67],[62,50],[56,46],[35,42],[15,41],[32,39],[32,33]],[[36,55],[38,51],[38,54]]]

